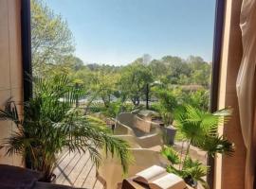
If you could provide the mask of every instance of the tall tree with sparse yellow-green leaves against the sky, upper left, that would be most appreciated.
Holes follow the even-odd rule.
[[[75,50],[72,33],[61,15],[40,0],[31,0],[31,51],[34,76],[62,65]]]

